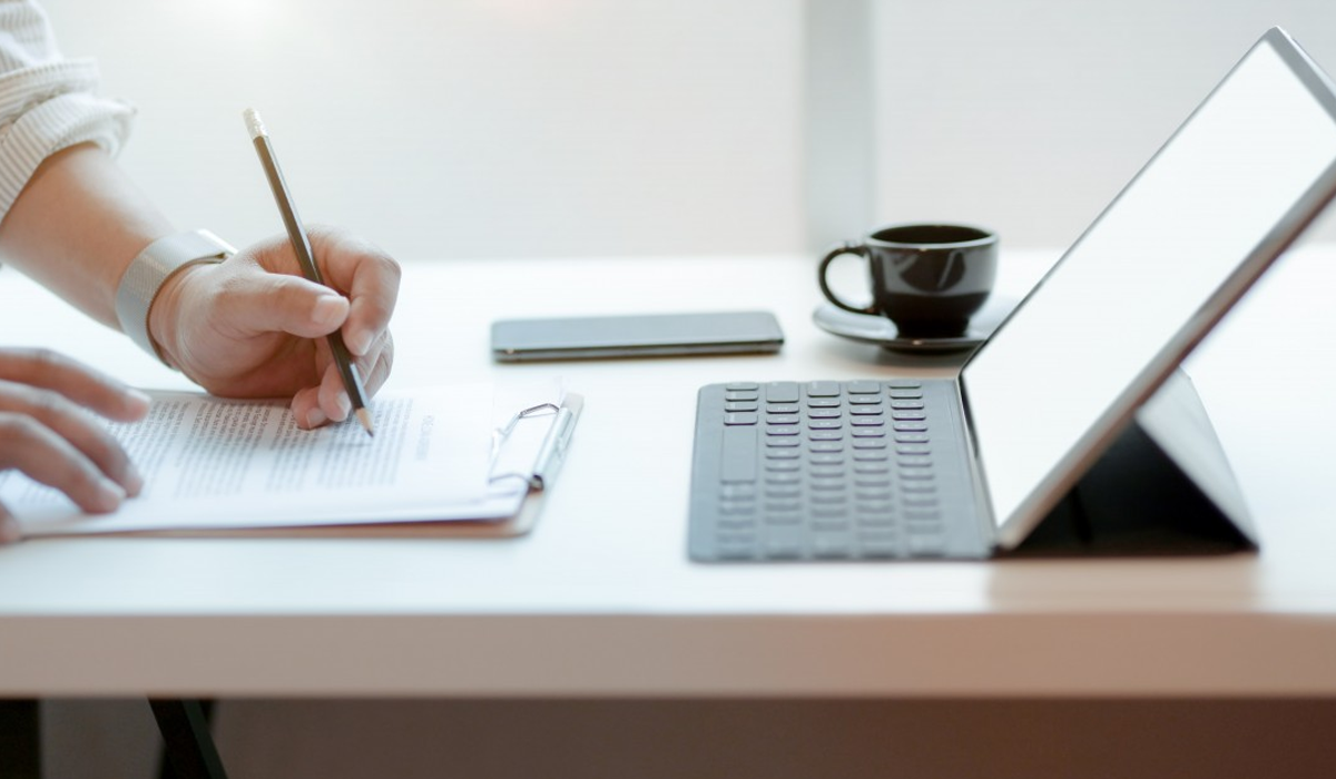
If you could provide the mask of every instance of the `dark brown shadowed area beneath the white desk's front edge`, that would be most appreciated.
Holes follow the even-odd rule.
[[[48,779],[151,776],[130,755],[155,746],[142,700],[45,706]],[[235,700],[216,730],[238,779],[1303,779],[1336,762],[1336,700]]]

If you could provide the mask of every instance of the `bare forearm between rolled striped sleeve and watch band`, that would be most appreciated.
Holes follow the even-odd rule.
[[[0,220],[0,257],[99,322],[119,329],[116,286],[172,224],[94,144],[37,168]]]

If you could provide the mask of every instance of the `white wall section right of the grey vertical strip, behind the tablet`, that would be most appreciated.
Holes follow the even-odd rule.
[[[876,212],[1014,246],[1070,243],[1268,27],[1336,71],[1332,0],[875,3]]]

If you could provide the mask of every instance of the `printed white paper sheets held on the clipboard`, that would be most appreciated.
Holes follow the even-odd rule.
[[[513,517],[562,401],[556,385],[387,392],[371,405],[371,437],[355,420],[301,430],[282,401],[150,396],[146,420],[107,422],[146,480],[118,512],[86,514],[0,472],[0,502],[25,536]]]

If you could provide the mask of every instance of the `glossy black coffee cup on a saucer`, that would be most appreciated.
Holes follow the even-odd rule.
[[[872,299],[855,306],[835,294],[827,269],[840,255],[867,261]],[[958,338],[993,291],[998,237],[969,224],[894,224],[826,253],[818,270],[822,293],[855,314],[888,318],[904,338]]]

